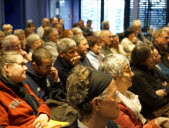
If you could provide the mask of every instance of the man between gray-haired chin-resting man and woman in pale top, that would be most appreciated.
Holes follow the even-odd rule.
[[[77,52],[80,55],[80,65],[92,67],[88,58],[86,57],[86,54],[88,52],[88,42],[84,36],[74,36],[73,40],[76,42],[77,45]]]

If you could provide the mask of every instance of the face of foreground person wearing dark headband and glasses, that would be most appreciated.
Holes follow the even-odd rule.
[[[98,117],[103,120],[114,120],[119,116],[119,102],[117,87],[114,80],[111,81],[106,92],[101,96],[99,102]]]

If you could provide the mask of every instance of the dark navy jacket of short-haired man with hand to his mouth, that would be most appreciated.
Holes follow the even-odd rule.
[[[26,64],[26,80],[23,83],[30,86],[31,90],[44,101],[49,98],[49,93],[53,90],[63,89],[61,82],[54,82],[50,76],[42,77],[37,75],[32,67],[32,62]]]

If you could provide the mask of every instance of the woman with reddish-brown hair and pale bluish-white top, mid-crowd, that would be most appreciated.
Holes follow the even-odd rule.
[[[96,36],[89,36],[87,37],[87,41],[89,44],[89,51],[86,54],[86,57],[89,60],[91,67],[97,70],[100,62],[104,58],[104,55],[100,53],[101,39]]]

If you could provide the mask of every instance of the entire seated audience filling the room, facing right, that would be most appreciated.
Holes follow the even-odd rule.
[[[108,21],[65,29],[43,18],[0,31],[0,127],[43,128],[50,119],[69,128],[169,127],[169,27],[122,34]]]

